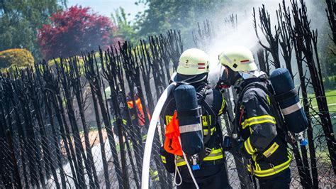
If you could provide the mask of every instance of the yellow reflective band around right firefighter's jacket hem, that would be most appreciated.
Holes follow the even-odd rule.
[[[257,164],[258,168],[256,168],[254,170],[254,175],[256,175],[258,177],[267,177],[267,176],[270,176],[270,175],[275,175],[276,173],[280,173],[281,171],[284,171],[286,168],[289,168],[289,166],[291,165],[291,153],[289,153],[288,148],[287,148],[287,151],[288,151],[287,152],[288,153],[287,158],[289,158],[289,159],[286,162],[281,163],[278,166],[274,166],[273,168],[269,168],[267,170],[259,170],[260,166],[259,166],[259,164]],[[250,165],[247,165],[247,171],[251,172]]]

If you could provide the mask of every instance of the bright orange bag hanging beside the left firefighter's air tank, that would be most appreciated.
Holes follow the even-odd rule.
[[[166,140],[164,141],[164,150],[168,153],[183,156],[181,144],[179,144],[179,120],[177,120],[177,112],[174,112],[172,121],[166,126],[166,132],[164,134]]]

